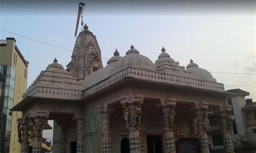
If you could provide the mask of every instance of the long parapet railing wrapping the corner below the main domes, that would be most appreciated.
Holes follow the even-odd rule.
[[[114,73],[109,78],[98,82],[98,84],[85,89],[85,91],[83,92],[83,97],[96,93],[97,91],[100,91],[101,89],[108,87],[126,77],[143,79],[154,82],[165,82],[166,84],[191,86],[201,89],[210,89],[213,91],[225,91],[224,85],[218,82],[202,81],[194,78],[182,77],[173,74],[165,74],[157,71],[127,67],[122,71]]]

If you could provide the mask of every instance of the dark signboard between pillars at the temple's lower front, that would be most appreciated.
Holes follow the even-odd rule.
[[[178,153],[199,153],[200,144],[198,138],[179,138],[177,141]]]

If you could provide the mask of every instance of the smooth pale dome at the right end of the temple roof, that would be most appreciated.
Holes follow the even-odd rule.
[[[200,80],[216,82],[216,79],[212,77],[212,74],[209,71],[204,68],[198,67],[198,65],[194,63],[192,59],[190,60],[190,64],[188,64],[186,68],[186,72],[192,73]]]

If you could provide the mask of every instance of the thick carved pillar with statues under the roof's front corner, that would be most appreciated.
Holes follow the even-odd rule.
[[[129,130],[130,152],[140,153],[144,152],[143,144],[140,143],[140,115],[142,113],[141,105],[143,103],[143,96],[130,95],[123,96],[121,104],[127,107],[129,111],[129,124],[126,128]]]

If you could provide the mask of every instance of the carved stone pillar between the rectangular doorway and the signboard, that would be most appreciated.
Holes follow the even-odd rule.
[[[176,113],[174,112],[174,107],[176,106],[176,100],[175,99],[164,99],[161,100],[161,103],[158,103],[156,106],[157,108],[160,108],[163,112],[164,116],[164,141],[165,141],[165,147],[167,152],[175,153],[176,147],[175,147],[175,140],[174,140],[174,116]]]

